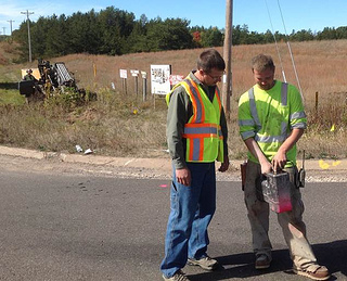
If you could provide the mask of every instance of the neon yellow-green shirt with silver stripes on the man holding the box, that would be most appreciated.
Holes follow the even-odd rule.
[[[243,140],[254,138],[269,161],[294,128],[306,128],[300,93],[286,82],[277,81],[268,91],[254,86],[239,101],[239,126]],[[248,152],[248,158],[258,159]],[[296,165],[296,145],[287,153],[285,167]]]

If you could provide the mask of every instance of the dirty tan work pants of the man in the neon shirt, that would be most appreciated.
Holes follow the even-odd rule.
[[[294,184],[297,169],[288,168],[286,171],[290,174],[292,182],[291,196],[293,209],[278,214],[278,221],[290,248],[294,266],[304,269],[316,265],[317,259],[306,238],[306,226],[303,221],[304,203],[301,201],[301,193]],[[256,184],[260,183],[260,165],[248,161],[244,195],[252,228],[253,250],[256,256],[266,254],[271,259],[272,246],[268,235],[269,204],[260,201],[256,192]]]

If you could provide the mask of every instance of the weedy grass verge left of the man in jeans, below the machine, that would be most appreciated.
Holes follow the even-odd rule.
[[[166,149],[164,100],[154,111],[149,103],[110,91],[82,105],[63,97],[0,106],[0,143],[70,153],[79,144],[113,156],[153,156]]]

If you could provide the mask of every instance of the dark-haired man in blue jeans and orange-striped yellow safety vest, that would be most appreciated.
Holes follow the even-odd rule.
[[[165,239],[164,280],[187,281],[185,264],[218,267],[207,255],[207,227],[216,209],[215,161],[229,167],[227,122],[217,82],[226,63],[214,49],[202,52],[197,71],[167,94],[167,142],[172,158],[171,212]]]

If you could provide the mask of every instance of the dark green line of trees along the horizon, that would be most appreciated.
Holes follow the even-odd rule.
[[[144,14],[136,20],[131,12],[107,7],[105,10],[70,16],[53,14],[30,22],[33,59],[61,56],[70,53],[121,55],[134,52],[155,52],[193,48],[220,47],[224,29],[217,27],[190,27],[190,21],[156,17],[149,20]],[[270,30],[249,31],[247,25],[232,27],[232,43],[257,44],[278,41],[307,41],[347,39],[347,26],[325,27],[322,31],[293,30],[290,35]],[[23,56],[27,58],[27,24],[23,22],[13,31],[13,39],[21,43]]]

